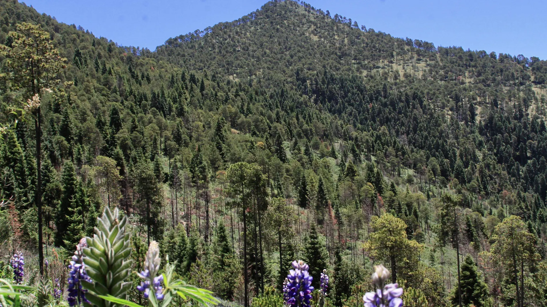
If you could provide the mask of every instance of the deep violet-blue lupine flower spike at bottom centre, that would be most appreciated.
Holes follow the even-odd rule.
[[[285,303],[294,307],[310,307],[313,277],[308,273],[308,265],[304,261],[293,261],[294,270],[287,275],[287,294]]]

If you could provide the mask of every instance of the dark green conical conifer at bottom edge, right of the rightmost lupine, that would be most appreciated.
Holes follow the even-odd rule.
[[[465,257],[461,268],[461,290],[462,290],[462,305],[475,307],[484,306],[485,299],[488,298],[488,288],[479,275],[478,269],[470,255]],[[457,306],[458,302],[458,286],[452,291],[451,302],[453,306]]]

